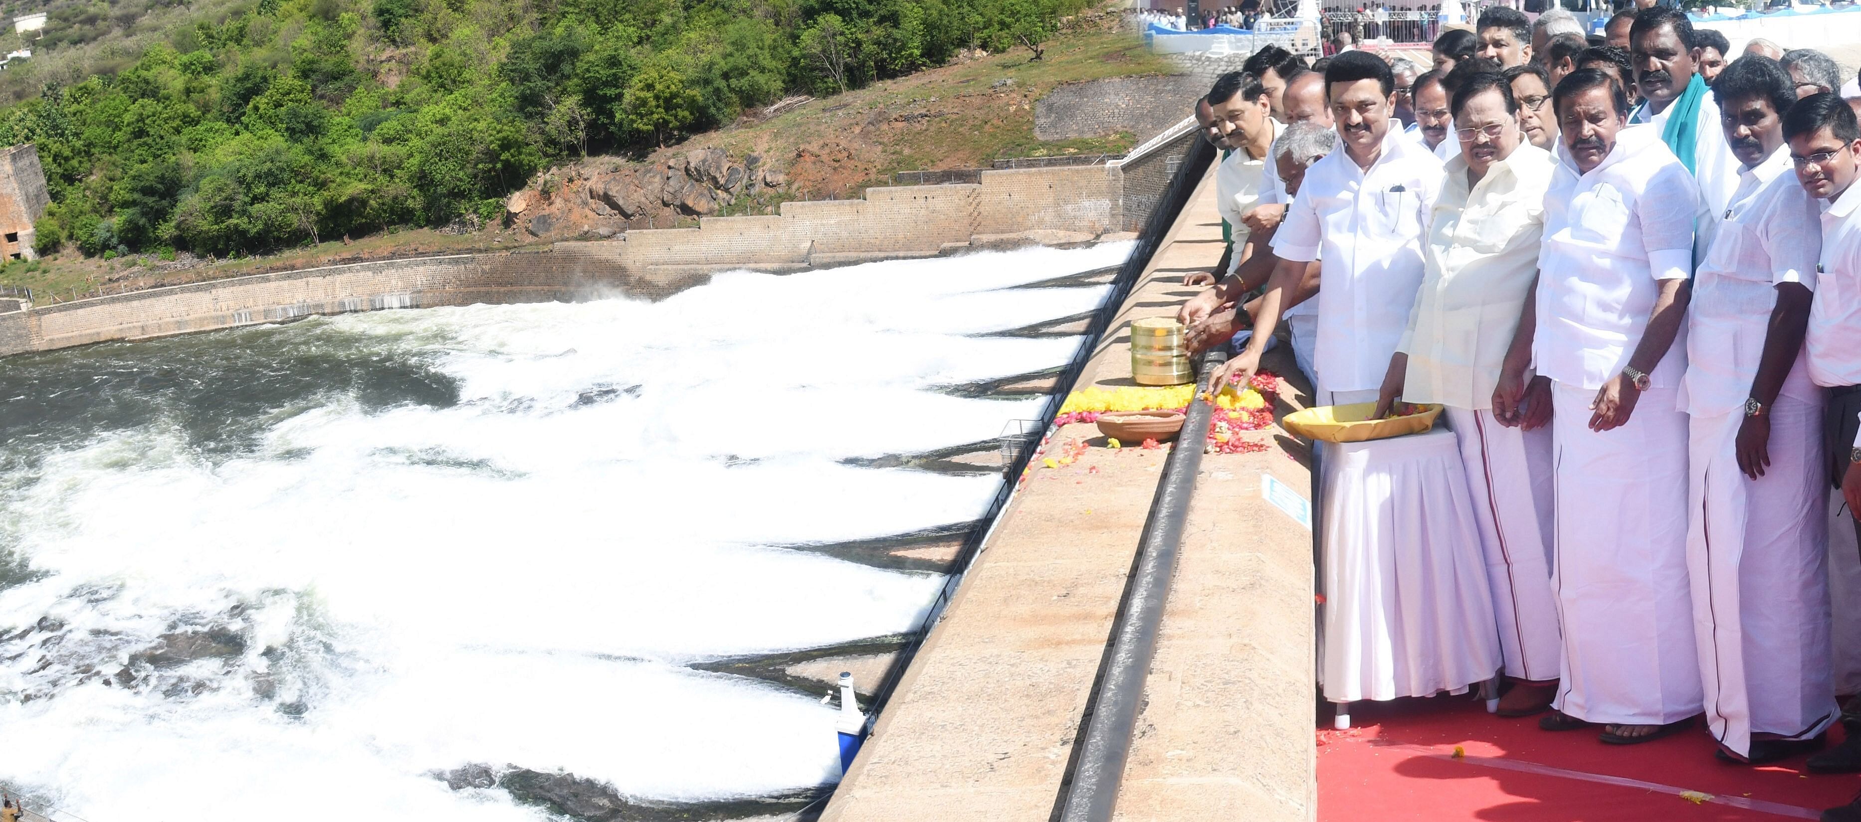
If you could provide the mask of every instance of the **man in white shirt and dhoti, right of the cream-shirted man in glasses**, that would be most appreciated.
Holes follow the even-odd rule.
[[[1558,84],[1532,363],[1552,381],[1561,684],[1546,731],[1645,742],[1699,712],[1679,383],[1699,188],[1606,73]],[[1520,379],[1507,363],[1502,379]]]

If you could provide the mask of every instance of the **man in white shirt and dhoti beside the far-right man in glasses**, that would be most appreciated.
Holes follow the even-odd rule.
[[[1822,234],[1783,149],[1790,76],[1738,58],[1712,95],[1742,167],[1688,305],[1686,569],[1716,753],[1764,764],[1820,748],[1841,716],[1822,389],[1803,365]]]

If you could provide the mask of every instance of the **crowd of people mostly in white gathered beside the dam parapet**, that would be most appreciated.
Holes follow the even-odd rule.
[[[1479,545],[1427,550],[1472,552],[1491,614],[1429,606],[1502,716],[1861,772],[1828,575],[1828,506],[1861,511],[1855,78],[1662,6],[1600,39],[1491,7],[1429,71],[1267,46],[1221,76],[1195,117],[1228,255],[1187,346],[1245,381],[1284,340],[1318,405],[1444,407]]]

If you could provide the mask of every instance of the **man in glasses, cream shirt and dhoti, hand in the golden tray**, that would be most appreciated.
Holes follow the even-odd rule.
[[[1560,655],[1550,590],[1550,385],[1532,379],[1530,400],[1522,385],[1509,385],[1494,402],[1537,281],[1545,190],[1558,167],[1548,151],[1524,139],[1519,112],[1504,74],[1474,74],[1453,95],[1461,154],[1448,160],[1422,245],[1422,288],[1373,413],[1383,417],[1398,398],[1446,407],[1479,523],[1504,671],[1515,683],[1500,716],[1550,709]],[[1513,411],[1520,400],[1532,411],[1524,426]]]

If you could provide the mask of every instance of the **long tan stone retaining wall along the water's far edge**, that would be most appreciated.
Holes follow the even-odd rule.
[[[259,273],[0,312],[0,355],[210,331],[309,314],[577,299],[603,290],[661,299],[715,272],[930,257],[1027,231],[1070,238],[1141,225],[1105,166],[983,171],[979,184],[873,188],[865,199],[783,203],[780,216],[705,218],[547,251],[424,257]],[[1145,182],[1146,184],[1146,182]],[[1154,197],[1152,197],[1154,201]]]

